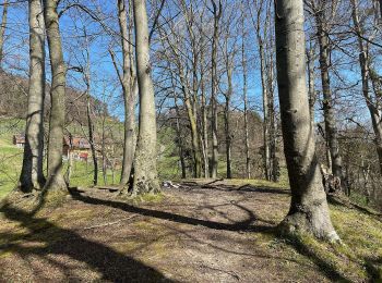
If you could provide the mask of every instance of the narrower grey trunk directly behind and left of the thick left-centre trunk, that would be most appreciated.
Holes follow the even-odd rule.
[[[131,17],[131,3],[129,3],[129,15]],[[120,185],[124,186],[130,180],[131,169],[135,151],[135,100],[136,91],[134,91],[134,72],[131,62],[132,45],[128,39],[131,38],[128,23],[128,11],[126,9],[126,0],[118,0],[118,21],[121,34],[122,45],[122,75],[120,82],[123,93],[124,102],[124,138],[123,138],[123,159]],[[116,66],[117,67],[117,66]],[[118,70],[118,69],[117,69]]]

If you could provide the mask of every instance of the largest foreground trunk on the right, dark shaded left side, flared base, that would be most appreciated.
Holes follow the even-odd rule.
[[[339,239],[331,222],[322,176],[315,156],[306,85],[302,0],[276,0],[275,30],[277,83],[284,151],[291,189],[283,233],[308,232]]]

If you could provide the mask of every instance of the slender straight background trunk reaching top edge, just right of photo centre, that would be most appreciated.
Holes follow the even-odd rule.
[[[219,20],[222,17],[222,1],[218,0],[218,7],[215,0],[211,0],[214,13],[214,35],[212,40],[212,70],[211,70],[211,112],[212,112],[212,162],[211,176],[217,176],[218,165],[218,142],[217,142],[217,45],[219,36]]]

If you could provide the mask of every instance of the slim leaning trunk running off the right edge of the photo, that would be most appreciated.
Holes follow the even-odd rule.
[[[353,22],[355,25],[356,33],[358,35],[362,35],[362,27],[359,22],[359,15],[358,15],[358,1],[351,0],[353,4]],[[373,99],[370,96],[370,87],[369,87],[369,78],[374,84],[374,77],[370,76],[370,58],[369,58],[369,50],[367,45],[363,42],[362,38],[358,37],[358,47],[359,47],[359,65],[361,69],[361,77],[362,77],[362,94],[366,100],[366,104],[368,106],[370,116],[371,116],[371,123],[374,131],[374,144],[375,149],[379,157],[380,162],[380,173],[382,174],[382,118],[381,118],[381,111],[379,111],[378,106],[373,103]]]

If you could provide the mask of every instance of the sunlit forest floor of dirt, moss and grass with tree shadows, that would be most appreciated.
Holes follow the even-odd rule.
[[[290,193],[248,181],[206,181],[126,201],[85,188],[38,212],[23,201],[0,214],[1,282],[377,282],[381,216],[336,201],[344,245],[275,226]]]

